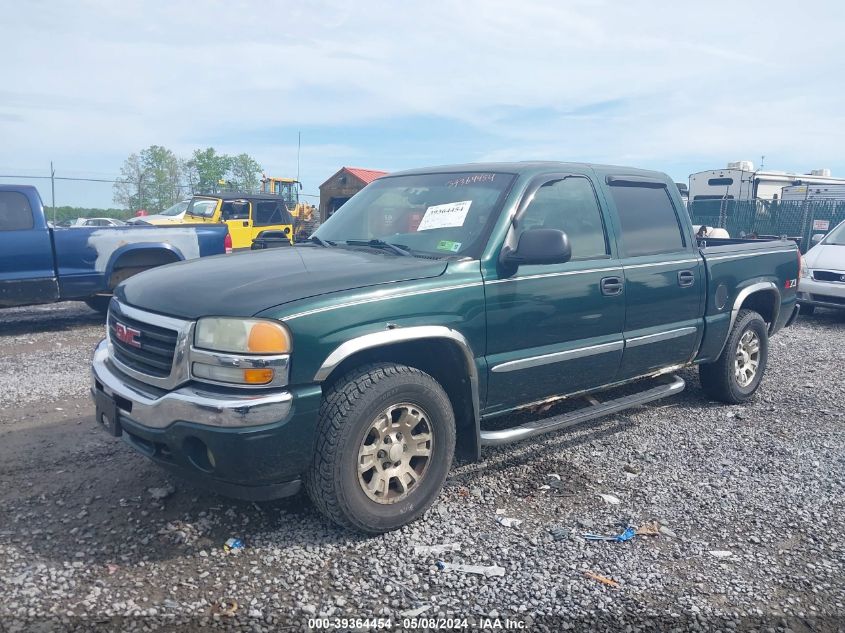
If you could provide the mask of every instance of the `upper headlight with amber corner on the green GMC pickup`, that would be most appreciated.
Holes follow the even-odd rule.
[[[287,354],[290,333],[276,321],[206,317],[197,322],[194,345],[235,354]]]

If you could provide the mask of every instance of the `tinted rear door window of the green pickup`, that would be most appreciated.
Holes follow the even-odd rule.
[[[664,185],[610,183],[626,255],[654,255],[686,246],[675,205]]]

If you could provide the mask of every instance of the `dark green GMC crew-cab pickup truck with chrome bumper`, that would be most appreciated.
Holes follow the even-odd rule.
[[[406,171],[310,243],[118,286],[92,395],[111,433],[221,494],[304,484],[333,521],[384,532],[425,512],[456,455],[678,393],[679,368],[752,397],[799,268],[788,241],[697,242],[662,173]]]

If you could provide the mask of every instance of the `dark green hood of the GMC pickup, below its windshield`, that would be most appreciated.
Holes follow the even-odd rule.
[[[292,246],[153,268],[114,294],[136,308],[186,319],[252,316],[326,293],[436,277],[446,266],[367,249]]]

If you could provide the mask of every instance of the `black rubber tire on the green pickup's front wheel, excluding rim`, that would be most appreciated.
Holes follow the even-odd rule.
[[[422,476],[406,496],[380,503],[364,492],[359,481],[359,448],[379,414],[402,403],[427,413],[433,448]],[[323,396],[305,488],[317,509],[338,525],[368,534],[389,532],[416,520],[434,502],[454,452],[455,416],[449,397],[434,378],[405,365],[366,365],[343,376]]]

